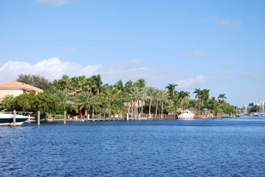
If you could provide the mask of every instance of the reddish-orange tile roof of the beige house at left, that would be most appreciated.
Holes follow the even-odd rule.
[[[42,89],[37,88],[35,86],[31,86],[29,84],[24,84],[22,82],[5,82],[0,83],[0,89],[1,90],[8,90],[8,89],[20,89],[20,90],[27,90],[27,91],[36,91],[38,93],[43,92]]]

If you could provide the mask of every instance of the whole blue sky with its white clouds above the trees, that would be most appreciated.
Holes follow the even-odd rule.
[[[265,100],[265,1],[0,1],[0,82],[100,74],[114,84]]]

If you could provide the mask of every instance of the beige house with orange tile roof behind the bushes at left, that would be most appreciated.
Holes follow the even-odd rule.
[[[3,101],[5,95],[14,95],[15,97],[22,93],[29,93],[29,91],[34,91],[35,93],[43,92],[40,88],[22,82],[0,83],[0,102]]]

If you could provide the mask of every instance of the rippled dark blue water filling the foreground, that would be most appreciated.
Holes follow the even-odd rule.
[[[0,176],[265,176],[265,118],[0,128]]]

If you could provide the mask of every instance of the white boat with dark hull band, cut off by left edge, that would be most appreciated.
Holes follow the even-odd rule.
[[[13,126],[14,112],[0,112],[0,126]],[[33,112],[16,111],[15,112],[15,125],[22,125],[25,121],[33,119],[31,116]]]

